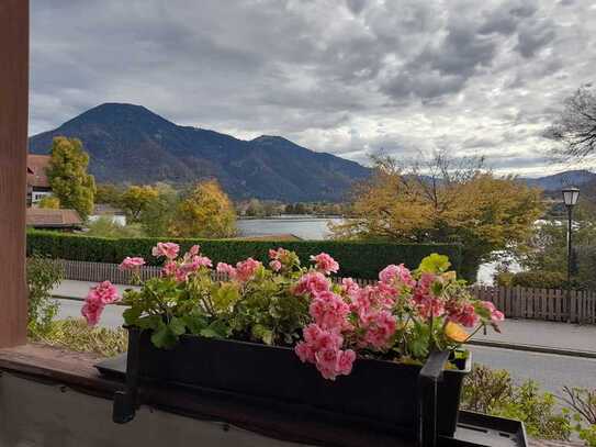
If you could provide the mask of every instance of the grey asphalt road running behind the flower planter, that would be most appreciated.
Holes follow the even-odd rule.
[[[59,317],[80,317],[82,303],[74,300],[60,302]],[[101,325],[117,327],[122,325],[122,311],[125,308],[109,305],[101,319]],[[552,354],[528,353],[484,346],[469,346],[474,362],[493,369],[506,369],[516,382],[536,380],[541,388],[555,394],[563,385],[596,387],[596,359],[559,356]]]

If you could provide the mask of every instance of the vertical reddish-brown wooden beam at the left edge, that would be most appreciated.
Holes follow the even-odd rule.
[[[0,1],[0,347],[26,343],[29,0]]]

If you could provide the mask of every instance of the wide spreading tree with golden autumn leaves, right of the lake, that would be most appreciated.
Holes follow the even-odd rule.
[[[353,219],[331,225],[335,238],[459,242],[480,264],[496,250],[521,249],[543,213],[538,190],[495,177],[481,158],[437,153],[409,169],[390,157],[374,163],[372,178],[355,191]]]

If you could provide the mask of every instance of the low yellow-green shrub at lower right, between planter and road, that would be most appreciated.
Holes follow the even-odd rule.
[[[566,440],[571,436],[569,412],[555,413],[554,395],[540,392],[531,380],[515,385],[506,370],[474,365],[465,378],[461,405],[465,410],[522,421],[528,434],[536,438]]]

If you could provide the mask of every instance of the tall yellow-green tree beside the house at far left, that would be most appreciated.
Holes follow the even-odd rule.
[[[93,211],[95,180],[87,174],[89,155],[77,138],[57,136],[47,169],[49,186],[65,209],[77,210],[85,220]]]

